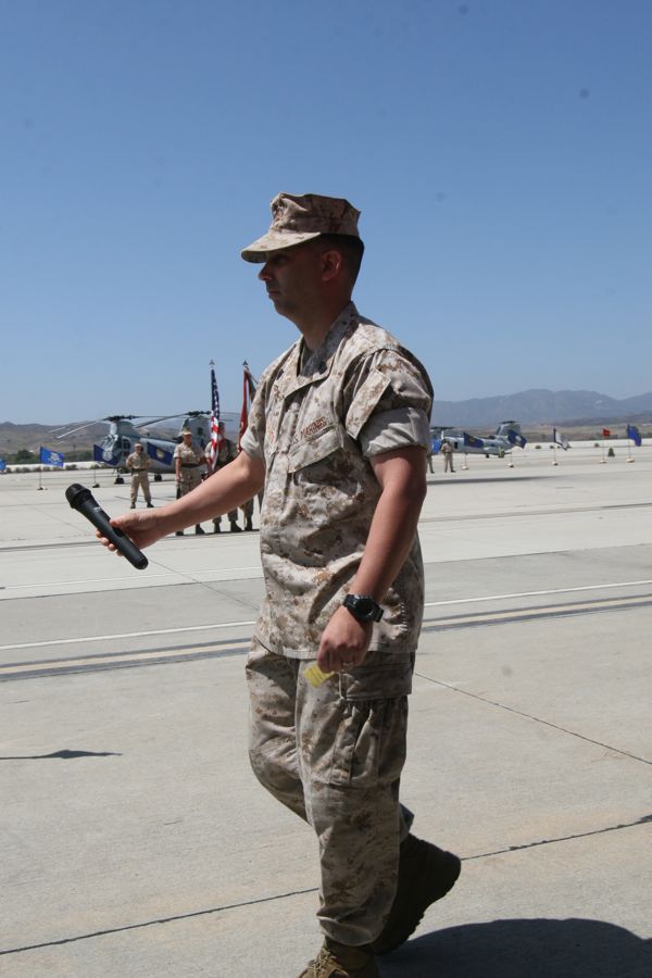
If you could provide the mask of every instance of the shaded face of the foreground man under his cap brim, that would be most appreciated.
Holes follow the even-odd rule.
[[[259,272],[274,309],[293,323],[319,304],[322,297],[322,249],[314,241],[269,252]]]

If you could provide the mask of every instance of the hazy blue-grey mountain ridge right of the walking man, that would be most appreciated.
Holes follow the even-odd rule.
[[[616,400],[594,390],[524,390],[497,398],[438,401],[432,406],[436,425],[486,427],[514,419],[522,425],[568,425],[616,421],[652,422],[652,392]]]

